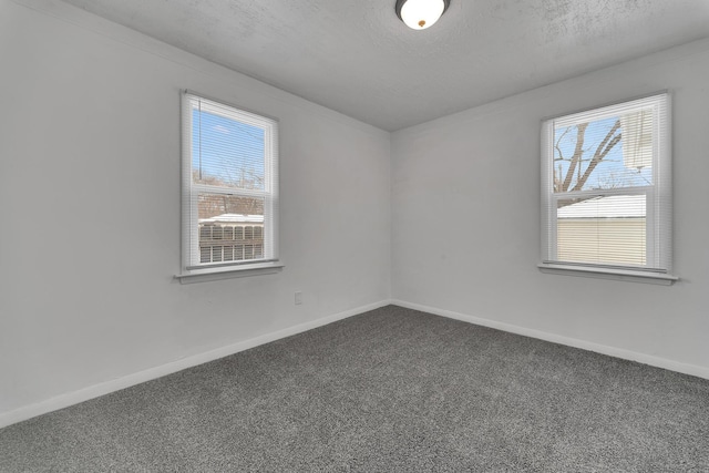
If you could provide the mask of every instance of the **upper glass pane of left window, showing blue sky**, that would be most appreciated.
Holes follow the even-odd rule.
[[[265,188],[264,130],[223,114],[192,109],[192,178],[195,184]]]

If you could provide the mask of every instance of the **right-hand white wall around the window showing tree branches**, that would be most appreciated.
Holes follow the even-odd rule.
[[[665,89],[681,281],[540,273],[542,119]],[[702,41],[394,133],[392,297],[709,378],[708,124]]]

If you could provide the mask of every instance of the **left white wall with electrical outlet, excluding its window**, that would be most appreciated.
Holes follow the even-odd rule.
[[[0,0],[0,59],[4,423],[388,299],[388,133],[54,0]],[[185,88],[280,120],[282,273],[173,279]]]

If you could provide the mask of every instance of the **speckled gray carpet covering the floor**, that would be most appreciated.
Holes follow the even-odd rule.
[[[708,472],[709,381],[389,306],[0,430],[2,472]]]

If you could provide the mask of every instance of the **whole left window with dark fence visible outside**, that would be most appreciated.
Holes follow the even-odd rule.
[[[280,267],[278,123],[183,96],[183,274]]]

